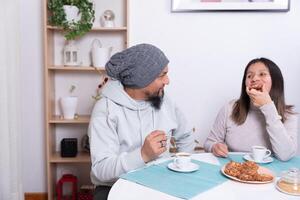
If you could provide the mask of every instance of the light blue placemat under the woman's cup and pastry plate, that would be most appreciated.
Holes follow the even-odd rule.
[[[227,158],[218,157],[218,161],[221,166],[230,162],[230,159],[235,162],[244,162],[245,160],[243,159],[243,156],[244,155],[241,155],[241,154],[229,154]],[[275,173],[276,176],[280,176],[280,173],[282,171],[288,170],[293,167],[296,167],[296,168],[300,167],[300,157],[299,156],[293,157],[292,159],[290,159],[286,162],[280,161],[274,157],[273,157],[273,159],[274,159],[274,161],[271,163],[265,163],[265,164],[259,164],[259,165],[270,169],[271,171],[273,171]]]

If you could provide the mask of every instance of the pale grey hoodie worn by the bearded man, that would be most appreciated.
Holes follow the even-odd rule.
[[[112,185],[120,175],[145,166],[141,147],[154,130],[164,131],[168,141],[173,136],[179,151],[192,152],[192,128],[169,98],[164,97],[161,108],[155,110],[149,102],[132,99],[119,81],[110,80],[89,125],[92,182]]]

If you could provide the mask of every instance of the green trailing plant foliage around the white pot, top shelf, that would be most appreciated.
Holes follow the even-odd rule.
[[[78,22],[68,22],[63,6],[71,5],[79,9],[81,18]],[[89,0],[50,0],[48,9],[51,12],[48,20],[53,26],[61,27],[65,32],[66,40],[73,40],[83,36],[92,29],[95,20],[93,3]]]

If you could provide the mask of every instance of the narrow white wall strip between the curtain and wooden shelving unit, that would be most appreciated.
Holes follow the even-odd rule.
[[[24,192],[46,191],[42,2],[20,1]]]

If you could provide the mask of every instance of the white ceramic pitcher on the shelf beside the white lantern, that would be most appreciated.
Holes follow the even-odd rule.
[[[112,47],[102,47],[100,40],[92,42],[92,60],[94,67],[104,67],[110,58]]]

